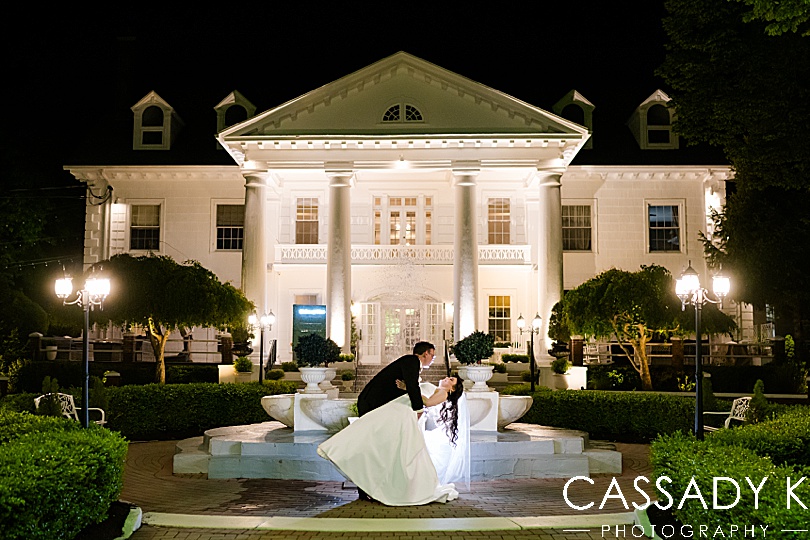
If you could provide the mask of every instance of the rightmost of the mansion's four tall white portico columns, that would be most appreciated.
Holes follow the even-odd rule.
[[[540,179],[538,237],[537,237],[537,306],[543,325],[535,350],[536,358],[549,357],[551,338],[548,337],[548,322],[554,304],[560,301],[563,291],[562,266],[562,199],[560,178],[562,170],[537,171]]]

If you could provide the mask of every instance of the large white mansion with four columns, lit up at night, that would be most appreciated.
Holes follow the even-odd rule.
[[[644,156],[626,164],[588,164],[607,139],[579,92],[549,112],[402,52],[259,114],[237,91],[211,103],[226,152],[200,152],[223,164],[165,158],[191,125],[153,91],[132,106],[138,159],[66,167],[91,193],[112,187],[88,197],[84,262],[199,261],[275,313],[279,361],[301,304],[326,306],[344,350],[354,316],[363,363],[451,329],[517,341],[521,314],[545,336],[563,290],[611,267],[677,276],[691,260],[708,278],[698,233],[729,167],[671,157],[685,149],[653,90],[625,112],[628,155]]]

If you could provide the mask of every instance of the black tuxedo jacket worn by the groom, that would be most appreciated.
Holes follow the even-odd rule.
[[[419,372],[421,370],[422,363],[413,354],[406,354],[385,366],[357,396],[358,414],[363,416],[406,393],[411,398],[413,410],[421,411],[424,407],[422,394],[419,392]],[[397,388],[397,379],[405,381],[407,392]]]

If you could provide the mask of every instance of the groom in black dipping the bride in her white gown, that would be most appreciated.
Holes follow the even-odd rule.
[[[462,380],[419,384],[436,348],[426,341],[383,368],[357,398],[355,422],[318,447],[357,485],[389,506],[447,502],[470,484],[470,418]],[[424,411],[424,412],[423,412]]]

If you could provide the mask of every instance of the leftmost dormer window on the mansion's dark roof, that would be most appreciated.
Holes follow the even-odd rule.
[[[183,121],[156,92],[132,106],[133,150],[169,150]]]

